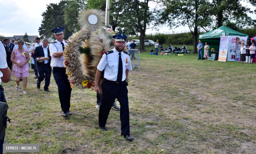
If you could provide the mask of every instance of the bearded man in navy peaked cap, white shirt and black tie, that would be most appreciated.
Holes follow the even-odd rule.
[[[105,69],[104,81],[102,82],[102,102],[99,108],[99,128],[102,131],[107,131],[105,125],[109,111],[117,98],[120,103],[121,136],[128,141],[132,141],[127,90],[127,78],[132,66],[130,54],[123,51],[127,36],[124,33],[119,33],[113,38],[115,48],[102,56],[96,71],[94,90],[99,93],[100,75]]]

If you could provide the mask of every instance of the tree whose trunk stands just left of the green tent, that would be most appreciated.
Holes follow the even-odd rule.
[[[180,25],[188,26],[194,39],[193,53],[197,53],[198,32],[202,28],[206,30],[205,27],[211,24],[209,2],[207,0],[170,0],[163,1],[163,5],[165,12],[163,12],[162,22],[167,21],[171,28]]]

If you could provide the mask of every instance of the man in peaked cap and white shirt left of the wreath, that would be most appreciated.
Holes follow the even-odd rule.
[[[56,40],[50,44],[50,53],[52,55],[51,66],[53,67],[53,77],[58,86],[59,101],[62,110],[62,116],[67,117],[71,115],[70,97],[71,87],[66,75],[66,68],[63,65],[63,53],[65,45],[63,27],[56,27],[52,30]]]

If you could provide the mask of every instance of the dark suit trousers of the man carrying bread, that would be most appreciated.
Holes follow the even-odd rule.
[[[43,71],[38,70],[39,76],[37,78],[37,81],[41,82],[45,78],[44,90],[49,90],[48,87],[51,81],[52,67],[50,65],[50,62],[48,62],[47,64],[44,64],[43,67],[44,67]]]

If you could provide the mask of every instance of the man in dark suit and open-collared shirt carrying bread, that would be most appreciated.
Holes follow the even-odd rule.
[[[52,74],[52,67],[50,65],[51,63],[51,56],[50,56],[50,50],[48,47],[48,39],[43,39],[43,45],[38,46],[35,48],[33,59],[36,60],[37,57],[48,57],[49,60],[44,61],[36,61],[36,67],[38,70],[38,79],[37,79],[37,89],[40,89],[41,82],[45,79],[45,85],[44,90],[46,92],[50,92],[48,89],[50,85],[51,80],[51,74]]]

